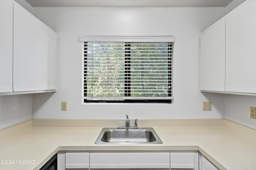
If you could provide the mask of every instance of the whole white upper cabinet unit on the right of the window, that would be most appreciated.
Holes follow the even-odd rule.
[[[200,90],[256,95],[256,0],[246,0],[201,35]]]

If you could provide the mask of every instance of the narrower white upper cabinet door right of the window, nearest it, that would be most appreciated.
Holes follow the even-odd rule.
[[[200,38],[200,90],[225,90],[225,20],[220,20]]]

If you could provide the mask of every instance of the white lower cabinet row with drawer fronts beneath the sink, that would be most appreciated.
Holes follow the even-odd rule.
[[[198,151],[58,153],[58,170],[199,170],[198,162]]]

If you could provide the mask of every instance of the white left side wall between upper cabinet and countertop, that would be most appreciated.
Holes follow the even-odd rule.
[[[0,129],[32,119],[32,94],[0,96]]]

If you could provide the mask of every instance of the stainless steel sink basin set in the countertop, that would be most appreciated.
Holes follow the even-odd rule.
[[[96,144],[161,144],[162,141],[152,127],[138,129],[103,128]]]

